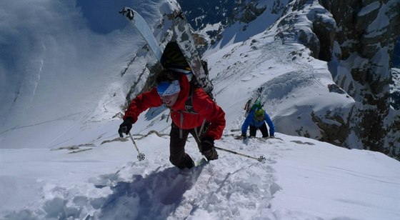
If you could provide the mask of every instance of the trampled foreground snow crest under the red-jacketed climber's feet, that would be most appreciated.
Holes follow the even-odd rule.
[[[2,197],[7,202],[0,218],[396,219],[400,214],[392,193],[400,187],[398,161],[376,152],[277,136],[242,141],[227,135],[216,142],[224,149],[264,155],[264,164],[219,151],[218,160],[184,171],[169,164],[168,137],[156,134],[136,140],[146,154],[144,161],[136,159],[129,141],[78,154],[28,149],[25,154],[38,159],[35,166],[2,170],[1,187],[22,181],[38,190],[37,199],[25,198],[15,210],[17,198],[26,196],[16,184],[15,191]],[[10,155],[6,166],[26,163],[14,151],[1,149]],[[195,161],[201,159],[193,139],[186,151]],[[53,159],[40,160],[48,156]],[[359,166],[351,166],[354,159]],[[19,179],[13,173],[26,175]]]

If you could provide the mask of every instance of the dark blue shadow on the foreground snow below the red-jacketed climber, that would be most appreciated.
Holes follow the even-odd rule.
[[[179,170],[175,167],[154,171],[133,181],[120,181],[101,206],[101,219],[166,219],[196,183],[203,166]]]

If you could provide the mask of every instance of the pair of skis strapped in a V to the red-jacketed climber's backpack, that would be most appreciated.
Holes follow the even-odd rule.
[[[209,80],[207,62],[201,60],[195,41],[191,36],[191,26],[181,11],[173,13],[174,19],[171,26],[173,36],[164,50],[159,46],[149,25],[137,11],[124,7],[119,13],[123,14],[136,27],[161,66],[185,74],[191,85],[203,88],[206,94],[214,99],[212,94],[214,86]]]

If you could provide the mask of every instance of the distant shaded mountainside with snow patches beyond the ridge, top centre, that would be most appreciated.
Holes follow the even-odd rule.
[[[220,49],[259,34],[279,19],[284,1],[178,1],[206,47]]]

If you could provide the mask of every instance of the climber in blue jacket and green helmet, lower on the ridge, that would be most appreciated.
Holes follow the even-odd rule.
[[[269,126],[269,134],[265,122]],[[263,109],[255,109],[253,111],[250,111],[249,115],[244,120],[241,126],[241,136],[243,136],[244,138],[246,138],[246,133],[249,126],[250,126],[250,137],[256,136],[257,129],[260,129],[261,134],[263,135],[264,138],[268,136],[274,137],[275,134],[274,123],[272,122],[269,115],[266,114],[266,111],[264,111]]]

